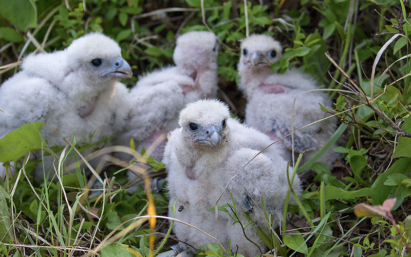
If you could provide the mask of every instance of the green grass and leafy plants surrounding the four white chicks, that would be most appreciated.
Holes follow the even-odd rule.
[[[296,169],[304,181],[300,204],[285,208],[290,218],[281,230],[269,235],[260,230],[261,237],[281,256],[406,256],[411,254],[410,10],[401,0],[248,1],[247,8],[230,0],[0,0],[0,81],[15,74],[28,53],[63,49],[86,32],[101,31],[122,48],[135,75],[124,82],[133,86],[138,75],[172,63],[176,36],[210,29],[221,40],[219,97],[243,117],[245,101],[235,87],[238,40],[247,33],[273,35],[285,49],[273,70],[297,66],[330,89],[334,110],[324,111],[338,116],[341,125],[329,145],[338,140],[334,151],[342,157],[332,171],[314,159]],[[0,140],[0,161],[16,170],[0,185],[0,256],[140,257],[175,243],[169,222],[160,217],[167,216],[166,194],[150,193],[148,182],[135,193],[124,190],[138,182],[126,177],[135,162],[164,175],[158,160],[135,153],[131,143],[132,148],[103,149],[102,160],[119,166],[93,167],[97,179],[87,181],[71,163],[64,163],[71,174],[62,175],[59,160],[81,159],[77,149],[87,146],[75,140],[47,145],[42,126],[25,125]],[[29,159],[33,151],[57,157],[53,182],[31,177],[39,162]],[[118,151],[133,161],[110,155]],[[102,194],[89,191],[95,180]],[[393,210],[384,209],[384,201],[394,197]],[[382,205],[384,212],[369,206],[360,216],[374,217],[359,218],[353,211],[359,203]],[[218,207],[233,223],[234,204]],[[168,241],[162,244],[164,237]],[[213,257],[240,253],[235,246],[225,252],[217,242],[198,251]]]

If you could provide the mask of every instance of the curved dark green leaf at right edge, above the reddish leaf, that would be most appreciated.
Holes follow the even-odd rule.
[[[384,185],[387,177],[394,173],[407,174],[409,173],[409,167],[411,167],[411,159],[401,158],[394,162],[394,164],[386,172],[380,174],[370,187],[372,204],[381,205],[393,189],[392,186]]]

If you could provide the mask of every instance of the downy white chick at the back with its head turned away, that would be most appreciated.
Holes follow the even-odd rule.
[[[138,151],[143,146],[147,150],[160,135],[178,126],[178,113],[185,104],[201,98],[215,97],[217,54],[218,43],[214,33],[192,31],[180,35],[173,54],[175,66],[164,67],[139,78],[131,90],[131,94],[136,98],[151,98],[151,103],[137,103],[144,105],[147,112],[155,112],[157,117],[153,113],[148,114],[150,117],[147,121],[144,120],[148,124],[144,131],[136,130],[135,122],[126,122],[120,143],[128,144],[130,139],[134,138]],[[144,116],[142,118],[145,119]],[[151,153],[154,159],[159,160],[162,157],[164,144],[165,140]]]

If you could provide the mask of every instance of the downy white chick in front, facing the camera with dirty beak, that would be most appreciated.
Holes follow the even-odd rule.
[[[164,149],[170,196],[175,204],[175,217],[215,236],[228,249],[238,245],[238,253],[245,256],[259,254],[258,248],[242,233],[239,224],[220,212],[217,220],[214,206],[230,179],[260,150],[271,143],[270,138],[253,128],[230,118],[226,104],[218,100],[199,100],[188,104],[180,113],[179,128],[171,132]],[[261,196],[267,211],[273,216],[274,228],[281,221],[288,183],[287,162],[279,154],[277,145],[255,157],[234,179],[223,193],[218,205],[231,204],[231,195],[243,225],[248,222],[242,212],[254,218],[254,224],[267,228],[262,213]],[[290,169],[291,173],[291,169]],[[301,193],[300,179],[294,178],[293,189]],[[178,210],[177,210],[178,209]],[[172,216],[169,210],[169,216]],[[182,242],[199,247],[215,241],[181,223],[174,223],[173,231]],[[246,234],[261,249],[264,243],[252,226]],[[180,246],[182,246],[180,244]]]

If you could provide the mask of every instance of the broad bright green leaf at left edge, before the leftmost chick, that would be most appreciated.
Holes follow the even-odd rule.
[[[0,162],[16,161],[29,151],[42,148],[42,122],[25,124],[0,139]]]

